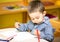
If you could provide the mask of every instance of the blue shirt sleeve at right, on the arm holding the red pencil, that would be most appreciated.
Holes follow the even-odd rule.
[[[46,23],[47,26],[45,27],[45,30],[40,33],[41,38],[44,38],[48,41],[51,41],[54,38],[54,29],[53,29],[52,25],[50,24],[48,18],[45,21],[45,23]]]

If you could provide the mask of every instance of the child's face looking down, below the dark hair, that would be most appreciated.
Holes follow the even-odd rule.
[[[29,16],[33,23],[39,24],[44,20],[45,15],[38,11],[38,12],[30,13]]]

